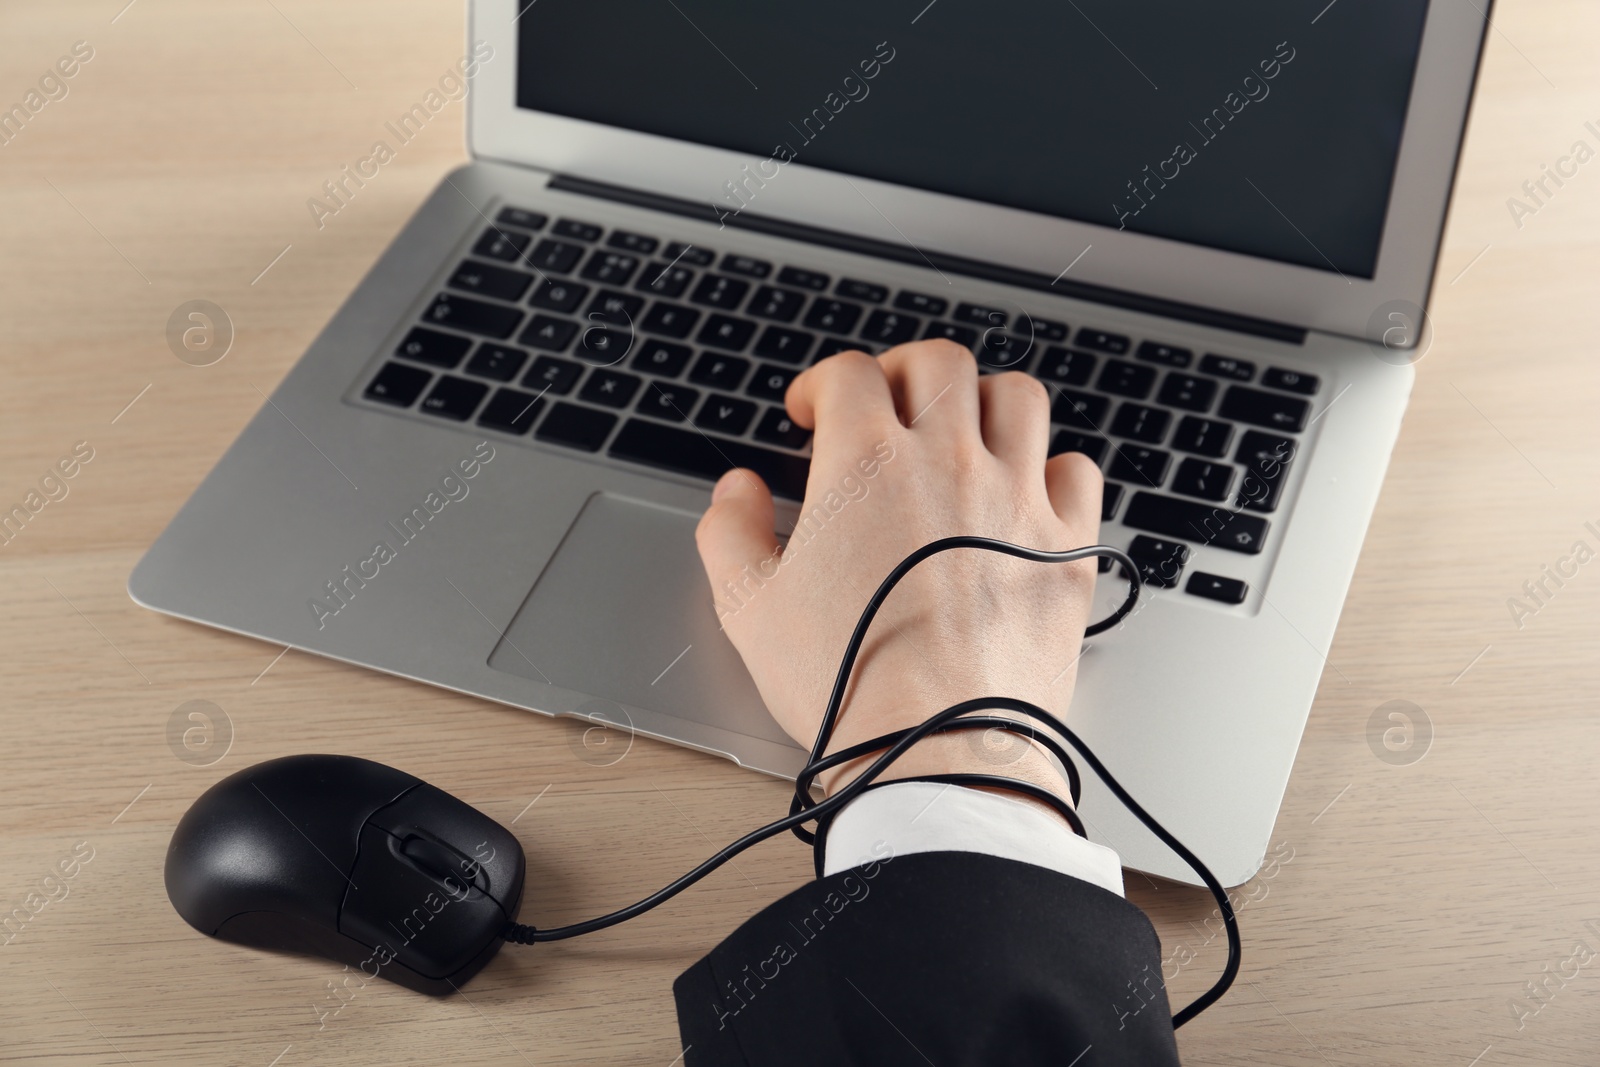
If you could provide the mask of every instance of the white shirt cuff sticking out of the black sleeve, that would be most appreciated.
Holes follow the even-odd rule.
[[[894,782],[845,805],[827,830],[822,873],[915,853],[984,853],[1048,867],[1123,896],[1122,857],[1034,805],[965,785]],[[875,848],[877,846],[877,848]]]

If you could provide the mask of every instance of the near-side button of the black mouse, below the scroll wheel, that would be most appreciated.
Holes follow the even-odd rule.
[[[386,830],[362,830],[339,933],[426,977],[456,974],[506,929],[501,905],[483,893],[451,893],[400,854]]]

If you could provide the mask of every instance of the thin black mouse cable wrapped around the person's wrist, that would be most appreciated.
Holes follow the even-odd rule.
[[[795,797],[794,801],[790,803],[790,811],[787,816],[784,816],[782,819],[776,819],[774,822],[768,822],[758,830],[746,833],[739,840],[733,841],[731,845],[718,851],[715,856],[706,859],[693,870],[686,872],[685,875],[678,877],[677,880],[662,886],[661,889],[656,889],[645,899],[629,904],[627,907],[618,909],[598,918],[590,918],[581,923],[570,923],[566,926],[552,926],[549,929],[538,929],[525,923],[507,923],[502,937],[514,944],[538,944],[544,941],[565,941],[568,937],[579,937],[582,934],[589,934],[598,929],[606,929],[608,926],[626,923],[627,920],[643,915],[653,907],[664,904],[666,901],[670,901],[678,893],[690,888],[710,872],[717,870],[739,853],[771,837],[776,837],[784,830],[794,830],[795,835],[800,837],[802,840],[814,843],[816,835],[805,830],[802,827],[803,822],[816,821],[819,830],[826,827],[826,821],[829,821],[840,808],[848,805],[851,800],[856,800],[861,793],[870,789],[874,785],[874,781],[883,771],[886,771],[890,765],[894,763],[894,760],[904,755],[918,741],[934,733],[946,733],[952,729],[979,729],[979,728],[1008,729],[1013,733],[1022,733],[1027,737],[1038,741],[1045,747],[1048,747],[1051,753],[1061,760],[1062,766],[1067,768],[1069,789],[1074,803],[1077,803],[1080,792],[1077,769],[1074,768],[1072,761],[1066,758],[1067,757],[1066,750],[1059,745],[1059,742],[1054,741],[1054,737],[1051,737],[1048,733],[1035,729],[1030,723],[1022,723],[1013,718],[1005,718],[998,715],[970,715],[971,712],[1006,710],[1024,715],[1029,720],[1035,720],[1045,726],[1050,726],[1053,731],[1066,737],[1066,741],[1090,765],[1090,769],[1093,769],[1094,774],[1106,784],[1106,787],[1112,792],[1112,795],[1115,795],[1117,800],[1120,800],[1122,805],[1128,808],[1128,811],[1133,813],[1133,816],[1139,819],[1139,822],[1142,822],[1147,830],[1150,830],[1150,833],[1154,833],[1163,845],[1166,845],[1166,848],[1170,848],[1179,859],[1182,859],[1184,864],[1187,864],[1200,877],[1205,886],[1211,891],[1211,896],[1216,899],[1218,912],[1222,915],[1222,925],[1227,931],[1227,963],[1222,968],[1222,974],[1206,992],[1203,992],[1192,1003],[1189,1003],[1186,1008],[1182,1008],[1173,1016],[1173,1027],[1176,1029],[1184,1025],[1186,1022],[1198,1016],[1202,1011],[1210,1008],[1213,1003],[1216,1003],[1234,984],[1234,977],[1238,974],[1240,953],[1242,953],[1240,937],[1238,937],[1238,920],[1234,915],[1232,902],[1227,899],[1227,891],[1222,889],[1222,885],[1216,880],[1216,875],[1211,873],[1211,870],[1200,861],[1200,857],[1195,856],[1192,851],[1189,851],[1176,837],[1171,835],[1171,832],[1166,830],[1166,827],[1157,822],[1152,814],[1149,814],[1144,808],[1141,808],[1139,803],[1128,793],[1128,790],[1123,789],[1122,784],[1112,776],[1112,773],[1106,769],[1106,765],[1099,761],[1099,758],[1090,750],[1086,744],[1083,744],[1083,741],[1077,736],[1077,733],[1074,733],[1066,723],[1062,723],[1053,713],[1046,712],[1037,704],[1030,704],[1027,701],[1019,701],[1014,697],[1005,697],[1005,696],[974,697],[970,701],[962,701],[960,704],[952,704],[938,715],[923,720],[917,726],[888,733],[880,737],[872,737],[870,741],[864,741],[858,745],[835,752],[827,757],[822,755],[822,750],[827,747],[827,741],[834,733],[834,725],[838,720],[838,712],[845,699],[845,689],[854,670],[856,657],[861,653],[861,643],[866,638],[867,627],[872,624],[872,619],[877,614],[878,608],[888,598],[894,585],[899,584],[899,581],[914,566],[917,566],[928,557],[938,555],[941,552],[949,552],[952,549],[981,549],[986,552],[1000,552],[1003,555],[1011,555],[1035,563],[1074,563],[1091,557],[1101,557],[1122,565],[1122,573],[1128,579],[1128,597],[1109,616],[1086,627],[1083,630],[1085,637],[1094,637],[1098,633],[1104,633],[1106,630],[1120,624],[1131,614],[1134,603],[1139,598],[1141,582],[1139,582],[1138,566],[1134,566],[1128,553],[1122,552],[1120,549],[1112,549],[1109,545],[1090,545],[1083,549],[1070,549],[1067,552],[1045,552],[1042,549],[1029,549],[1024,545],[1011,544],[1008,541],[997,541],[994,537],[974,537],[974,536],[942,537],[939,541],[925,544],[923,547],[917,549],[909,557],[906,557],[899,563],[899,566],[890,571],[888,577],[883,579],[877,592],[872,593],[872,600],[867,601],[866,609],[862,609],[861,617],[856,622],[856,629],[850,637],[850,645],[845,649],[845,656],[838,664],[838,677],[834,681],[834,691],[829,696],[827,709],[822,713],[822,723],[818,728],[816,742],[811,745],[810,760],[800,771],[800,776],[795,779]],[[882,753],[864,771],[861,771],[861,774],[858,774],[848,785],[840,789],[837,793],[824,800],[813,800],[810,797],[810,785],[821,771],[826,771],[832,766],[846,763],[854,758],[861,758],[875,750],[882,750]],[[893,779],[893,781],[904,781],[904,779]],[[1003,787],[1011,792],[1022,792],[1038,800],[1045,800],[1046,803],[1053,803],[1058,811],[1062,811],[1062,814],[1066,814],[1066,811],[1070,811],[1066,801],[1062,801],[1059,797],[1054,797],[1054,793],[1048,793],[1048,790],[1042,790],[1038,787],[1029,787],[1027,782],[1018,782],[1014,779],[1006,779],[1002,776],[949,774],[949,776],[930,776],[922,781],[1003,784]],[[880,784],[888,784],[888,782],[880,782]],[[1072,814],[1066,817],[1067,822],[1074,827],[1074,830],[1082,835],[1083,825],[1082,821],[1077,817],[1077,813],[1072,811]],[[818,859],[818,862],[821,864],[821,859]]]

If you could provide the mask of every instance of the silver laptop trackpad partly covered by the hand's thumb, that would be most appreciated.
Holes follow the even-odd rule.
[[[672,507],[590,496],[490,667],[792,745],[717,622],[694,547],[698,522]]]

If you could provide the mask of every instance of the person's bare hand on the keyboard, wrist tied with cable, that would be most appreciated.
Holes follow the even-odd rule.
[[[696,531],[718,613],[773,717],[810,747],[845,643],[867,598],[930,541],[978,534],[1035,549],[1094,544],[1099,469],[1077,453],[1046,462],[1050,402],[1021,373],[979,379],[973,355],[917,341],[842,352],[789,387],[790,418],[814,430],[800,525],[773,534],[773,498],[730,470]],[[1029,563],[957,549],[923,561],[867,632],[829,744],[838,750],[978,696],[1013,696],[1066,717],[1088,622],[1094,563]],[[1066,795],[1037,749],[997,758],[982,731],[930,737],[883,777],[987,773]],[[835,789],[864,766],[840,768]]]

